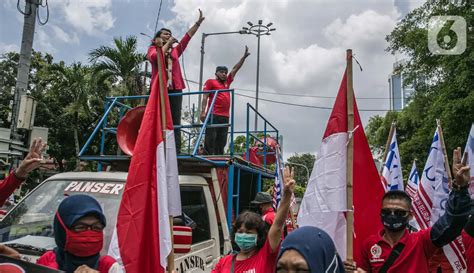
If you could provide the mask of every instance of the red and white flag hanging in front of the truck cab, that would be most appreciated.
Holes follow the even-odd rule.
[[[158,52],[158,61],[164,67],[163,53]],[[109,248],[109,255],[121,260],[126,272],[165,272],[167,256],[172,250],[169,217],[181,215],[173,122],[164,69],[159,73],[163,80],[157,78],[152,83]],[[166,124],[162,124],[162,112],[166,115]]]

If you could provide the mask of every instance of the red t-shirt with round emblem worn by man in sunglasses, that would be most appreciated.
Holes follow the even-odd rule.
[[[431,228],[405,234],[399,243],[405,244],[400,256],[395,260],[387,273],[428,273],[428,262],[438,249],[430,239]],[[367,238],[362,244],[362,269],[378,273],[385,260],[392,252],[392,247],[383,239],[384,231]]]

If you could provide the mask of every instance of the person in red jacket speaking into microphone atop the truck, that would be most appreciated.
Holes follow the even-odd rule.
[[[204,21],[202,11],[199,10],[199,19],[196,23],[184,34],[181,41],[177,41],[172,35],[171,30],[162,28],[158,31],[153,38],[152,44],[148,48],[147,59],[151,63],[151,81],[153,82],[158,75],[158,62],[156,50],[161,47],[165,54],[167,81],[168,81],[168,94],[182,93],[186,87],[184,85],[183,76],[181,75],[181,66],[179,65],[179,57],[183,54],[184,50],[188,46],[191,37],[196,33],[201,23]],[[151,86],[151,84],[150,84]],[[170,96],[170,108],[171,116],[173,118],[173,125],[181,124],[181,106],[183,103],[183,96]],[[181,131],[179,129],[174,130],[174,137],[176,142],[176,153],[179,154],[181,150]]]

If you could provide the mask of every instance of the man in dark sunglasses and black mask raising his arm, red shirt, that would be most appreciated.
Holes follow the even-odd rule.
[[[346,262],[346,271],[387,273],[428,273],[429,259],[437,249],[450,243],[461,234],[470,214],[471,198],[468,193],[469,167],[461,163],[461,149],[455,150],[453,158],[454,181],[446,203],[446,213],[428,229],[409,233],[407,227],[411,215],[411,198],[403,191],[389,191],[382,199],[381,217],[384,229],[367,238],[361,250],[362,260],[355,264]],[[392,259],[392,265],[385,263]]]

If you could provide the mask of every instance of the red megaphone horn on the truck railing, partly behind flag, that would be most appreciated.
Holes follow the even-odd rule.
[[[145,108],[146,106],[138,106],[130,109],[117,126],[117,143],[120,149],[129,156],[133,156]]]

